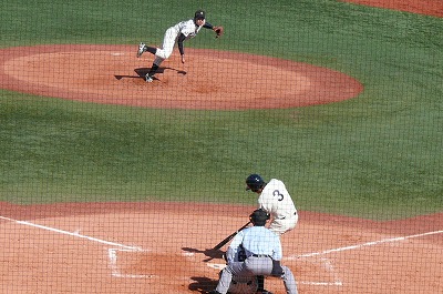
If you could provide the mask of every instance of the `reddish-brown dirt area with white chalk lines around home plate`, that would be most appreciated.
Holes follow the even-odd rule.
[[[254,207],[0,203],[0,210],[2,293],[159,294],[212,290],[223,260],[206,249]],[[442,227],[443,214],[372,222],[301,212],[298,227],[282,236],[284,263],[300,293],[441,293]],[[266,284],[284,293],[279,280]]]

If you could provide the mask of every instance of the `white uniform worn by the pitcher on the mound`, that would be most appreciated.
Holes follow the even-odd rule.
[[[178,36],[183,33],[186,37],[185,40],[188,40],[196,37],[202,28],[203,26],[198,27],[195,24],[194,19],[189,19],[181,21],[167,29],[165,37],[163,38],[163,45],[161,49],[157,49],[157,52],[155,53],[154,63],[159,65],[165,59],[171,57]]]

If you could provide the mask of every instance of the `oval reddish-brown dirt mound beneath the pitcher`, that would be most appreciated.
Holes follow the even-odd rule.
[[[246,53],[187,49],[144,81],[152,55],[137,47],[40,45],[0,50],[2,88],[78,101],[162,109],[245,110],[305,107],[357,97],[343,73]]]

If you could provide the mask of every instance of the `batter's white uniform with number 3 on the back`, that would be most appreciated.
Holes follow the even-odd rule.
[[[278,235],[296,227],[298,213],[284,182],[271,179],[258,197],[259,207],[271,216],[269,230]]]

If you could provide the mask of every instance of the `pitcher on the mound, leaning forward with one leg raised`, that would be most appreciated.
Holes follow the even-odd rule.
[[[205,11],[197,10],[194,14],[194,19],[181,21],[166,30],[162,48],[148,47],[143,42],[140,43],[137,51],[138,58],[146,51],[155,55],[151,70],[145,75],[146,82],[153,82],[154,74],[157,72],[158,67],[173,53],[175,42],[178,44],[178,50],[182,55],[182,63],[185,63],[185,50],[183,42],[196,37],[202,28],[213,30],[216,33],[216,38],[219,38],[224,34],[223,27],[215,27],[210,24],[206,21]]]

